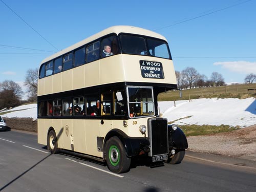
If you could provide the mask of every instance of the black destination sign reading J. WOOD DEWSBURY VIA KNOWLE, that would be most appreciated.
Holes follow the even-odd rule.
[[[161,62],[140,60],[140,71],[144,78],[164,79]]]

